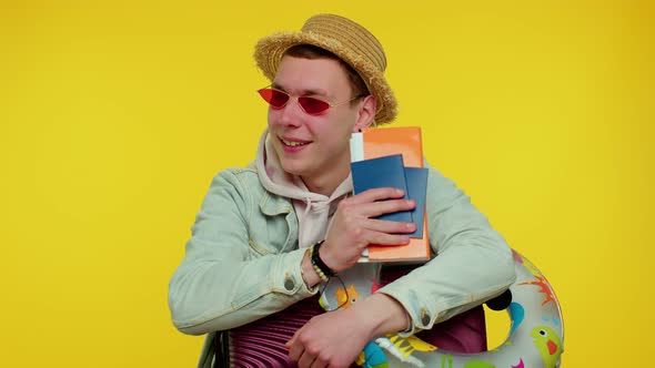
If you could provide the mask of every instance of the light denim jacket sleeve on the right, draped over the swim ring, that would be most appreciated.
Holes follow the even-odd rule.
[[[503,237],[451,180],[426,167],[430,244],[436,257],[379,289],[410,314],[407,335],[502,294],[516,277]]]

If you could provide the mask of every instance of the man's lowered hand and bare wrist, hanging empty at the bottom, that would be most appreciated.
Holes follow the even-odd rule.
[[[374,294],[347,309],[310,319],[286,343],[300,368],[347,368],[377,336],[407,327],[405,309],[392,297]]]

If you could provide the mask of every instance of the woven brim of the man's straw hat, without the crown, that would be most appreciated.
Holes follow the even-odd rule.
[[[264,75],[273,81],[284,52],[298,44],[312,44],[328,50],[351,65],[376,100],[375,123],[393,121],[397,114],[397,102],[386,79],[371,62],[357,57],[341,42],[311,32],[281,32],[261,39],[254,51],[254,59]]]

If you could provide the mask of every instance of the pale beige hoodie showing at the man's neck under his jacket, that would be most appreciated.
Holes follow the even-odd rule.
[[[309,247],[323,241],[332,223],[336,205],[353,190],[351,175],[326,196],[308,190],[302,178],[282,168],[270,140],[269,130],[260,139],[255,165],[262,186],[282,197],[290,198],[298,216],[299,247]]]

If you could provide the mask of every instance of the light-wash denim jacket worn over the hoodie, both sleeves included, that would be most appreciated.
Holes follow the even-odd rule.
[[[484,303],[515,279],[503,237],[451,180],[426,167],[430,244],[436,256],[377,290],[407,310],[409,334]],[[254,164],[213,178],[169,287],[175,327],[191,335],[210,334],[201,366],[211,333],[316,294],[318,287],[308,288],[301,275],[306,249],[299,248],[298,233],[291,201],[268,192]]]

